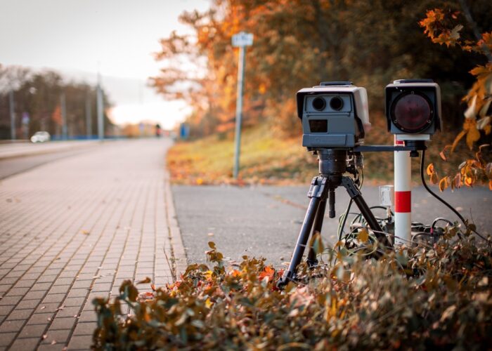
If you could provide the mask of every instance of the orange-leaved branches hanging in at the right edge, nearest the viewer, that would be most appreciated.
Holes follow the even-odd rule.
[[[446,161],[446,153],[453,152],[462,140],[465,140],[470,150],[473,150],[480,140],[486,140],[488,143],[477,147],[474,159],[463,161],[458,166],[458,173],[441,178],[439,188],[442,191],[447,187],[453,189],[462,185],[488,183],[492,190],[492,163],[486,161],[486,155],[490,154],[492,130],[492,26],[486,27],[485,32],[480,32],[470,8],[463,0],[460,0],[460,6],[446,5],[427,11],[426,17],[420,21],[425,34],[435,44],[448,48],[458,47],[462,51],[479,54],[484,63],[470,70],[475,81],[462,99],[467,103],[462,131],[456,135],[452,145],[446,145],[441,152],[441,158]],[[433,183],[437,183],[438,177],[433,164],[427,167],[427,174]]]

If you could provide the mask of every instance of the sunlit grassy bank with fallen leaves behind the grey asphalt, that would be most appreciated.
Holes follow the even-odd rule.
[[[300,126],[299,126],[300,128]],[[464,143],[448,162],[439,157],[444,145],[452,143],[453,132],[437,133],[428,143],[426,164],[434,163],[439,176],[458,171],[457,166],[474,153]],[[368,145],[390,145],[393,136],[387,133],[383,117],[377,118],[365,138]],[[267,126],[249,128],[242,133],[240,179],[233,180],[233,135],[211,135],[200,140],[178,142],[167,157],[171,181],[178,184],[306,184],[318,174],[316,157],[301,145],[301,137],[280,138]],[[393,180],[392,152],[365,152],[365,179],[369,183],[387,183]],[[420,159],[415,158],[413,180],[420,184],[417,170]]]

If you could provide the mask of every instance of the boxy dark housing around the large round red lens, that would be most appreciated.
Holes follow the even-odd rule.
[[[441,130],[441,89],[432,79],[399,79],[384,89],[388,131],[399,140],[429,140]]]

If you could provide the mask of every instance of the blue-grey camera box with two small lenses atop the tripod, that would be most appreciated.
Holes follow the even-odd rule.
[[[296,98],[302,146],[348,150],[363,143],[364,126],[370,126],[365,88],[350,81],[325,81],[299,90]]]

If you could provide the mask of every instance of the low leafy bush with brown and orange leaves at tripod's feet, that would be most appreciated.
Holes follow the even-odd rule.
[[[450,349],[485,350],[492,336],[491,246],[456,229],[437,244],[380,260],[323,251],[280,291],[283,273],[264,259],[228,267],[214,243],[207,265],[138,294],[126,281],[115,300],[96,299],[96,349]],[[319,243],[318,243],[319,246]],[[122,314],[122,303],[131,314]]]

